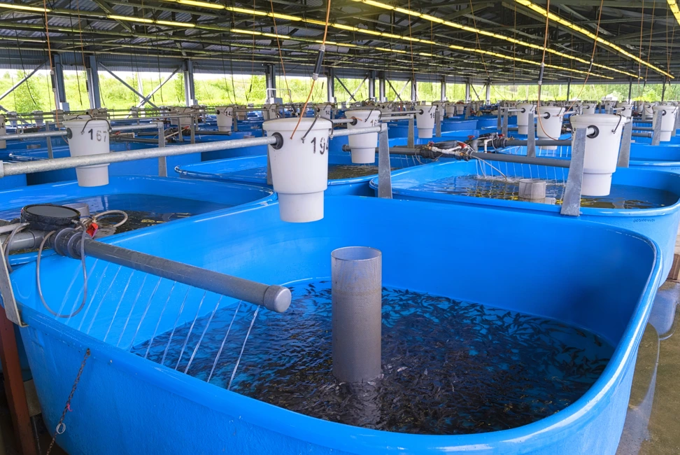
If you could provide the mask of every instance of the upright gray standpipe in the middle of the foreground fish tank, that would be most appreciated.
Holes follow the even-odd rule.
[[[381,372],[382,253],[348,246],[331,253],[333,375],[365,382]]]

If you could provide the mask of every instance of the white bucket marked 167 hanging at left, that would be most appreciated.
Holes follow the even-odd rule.
[[[67,120],[66,138],[71,156],[108,153],[108,122],[106,120]],[[108,185],[108,165],[76,167],[78,186]]]

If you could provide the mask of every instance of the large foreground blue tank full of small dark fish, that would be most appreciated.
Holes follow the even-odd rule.
[[[441,228],[446,226],[463,232],[465,241],[441,241]],[[438,239],[432,248],[423,247],[424,233]],[[614,455],[637,347],[661,271],[653,241],[602,223],[363,197],[327,197],[325,218],[315,223],[283,223],[274,203],[177,221],[111,241],[263,283],[290,283],[294,301],[284,314],[261,309],[258,316],[250,304],[226,297],[220,300],[217,295],[159,282],[153,276],[146,276],[145,283],[145,275],[139,272],[133,276],[129,269],[114,265],[106,269],[102,260],[87,260],[88,269],[92,269],[92,297],[77,316],[55,320],[36,295],[34,265],[15,271],[15,294],[28,324],[21,329],[22,338],[48,428],[57,425],[85,351],[90,351],[71,401],[74,412],[66,414],[66,432],[57,435],[57,443],[71,455],[222,451]],[[293,412],[291,403],[265,402],[269,398],[287,400],[288,396],[299,399],[301,394],[291,389],[291,384],[308,391],[310,382],[320,393],[330,393],[325,397],[329,400],[321,402],[320,412],[343,402],[338,395],[346,392],[329,377],[330,294],[323,280],[330,276],[331,251],[356,245],[378,248],[383,257],[383,377],[376,387],[394,385],[395,378],[403,378],[399,384],[404,389],[395,387],[388,392],[378,414],[370,405],[384,400],[369,395],[366,405],[357,408],[367,417],[364,421],[348,422],[341,414],[311,416],[306,415],[305,407]],[[513,267],[503,267],[490,286],[488,274],[476,271],[488,269],[499,258],[512,258]],[[551,264],[551,273],[527,274],[541,264]],[[41,265],[45,300],[65,311],[76,307],[83,299],[81,277],[79,261],[45,258]],[[129,290],[125,290],[128,282]],[[106,288],[112,285],[115,293],[108,295]],[[413,295],[420,295],[417,306],[394,306]],[[458,309],[465,309],[466,316]],[[471,309],[478,316],[474,311],[471,314]],[[420,318],[421,313],[428,316]],[[487,314],[488,320],[497,321],[506,330],[482,330],[478,337],[472,324],[481,321],[480,314]],[[465,330],[448,330],[451,323],[465,322],[462,319],[469,321]],[[233,326],[229,321],[234,321]],[[427,349],[422,341],[404,344],[394,339],[395,334],[409,333],[410,323],[415,321],[419,321],[413,329],[418,337],[434,333],[441,339],[427,343]],[[475,345],[486,344],[477,349],[490,352],[497,337],[524,342],[523,335],[515,334],[513,321],[522,321],[523,330],[530,332],[558,324],[561,329],[555,326],[557,330],[544,331],[544,341],[562,339],[565,330],[581,332],[582,336],[575,336],[593,346],[599,340],[607,356],[593,359],[597,367],[592,383],[579,388],[572,400],[558,405],[554,397],[541,395],[541,403],[552,401],[550,406],[556,408],[532,414],[531,421],[520,426],[507,422],[527,411],[524,406],[531,405],[523,405],[522,400],[529,398],[502,401],[493,407],[496,417],[484,418],[482,429],[479,422],[458,412],[458,407],[469,409],[467,399],[476,403],[475,397],[481,395],[483,401],[495,402],[491,397],[496,393],[528,394],[533,399],[533,387],[516,390],[504,386],[505,381],[514,384],[512,377],[523,376],[517,374],[522,368],[545,363],[548,369],[532,376],[537,379],[534,386],[540,388],[546,381],[553,384],[548,377],[556,370],[551,369],[560,365],[562,356],[567,356],[565,365],[571,358],[562,353],[562,347],[557,348],[555,360],[538,351],[524,358],[525,349],[534,352],[532,342],[527,343],[528,348],[501,343],[508,356],[514,356],[513,349],[517,349],[518,358],[488,364],[479,351],[447,344],[457,343],[458,337],[471,337]],[[537,321],[541,325],[532,329]],[[306,336],[300,337],[301,332]],[[394,353],[395,346],[404,349]],[[574,358],[580,359],[580,355]],[[316,367],[306,357],[311,357]],[[413,366],[423,359],[430,359],[428,365],[439,366],[431,366],[429,372]],[[586,367],[581,360],[576,360],[576,365],[579,371]],[[493,371],[493,375],[484,381],[469,379],[471,371],[480,368]],[[439,378],[440,374],[439,389],[428,388],[428,377]],[[283,377],[292,383],[281,395],[268,384],[278,387]],[[558,384],[560,390],[565,386]],[[229,386],[231,391],[226,390]],[[406,391],[416,396],[409,398]],[[357,399],[349,393],[348,400]],[[255,395],[262,398],[251,398]],[[432,407],[430,412],[413,414],[408,421],[374,421],[376,416],[389,415],[392,408],[406,412],[421,409],[418,397],[424,400],[425,395],[439,396],[439,411]],[[486,412],[488,404],[483,408]],[[458,431],[423,431],[428,422],[454,425]],[[406,427],[399,429],[399,423]],[[460,426],[463,423],[469,426]]]

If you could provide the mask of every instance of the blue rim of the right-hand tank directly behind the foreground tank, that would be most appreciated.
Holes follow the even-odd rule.
[[[434,162],[434,163],[429,163],[422,166],[444,166],[444,165],[456,165],[460,163],[456,161],[448,161],[448,162]],[[633,162],[631,162],[631,165]],[[395,171],[392,173],[392,179],[395,179],[396,177],[402,176],[403,174],[407,174],[408,172],[413,172],[413,170],[416,168],[409,168],[409,169],[400,169],[399,171]],[[675,180],[676,185],[678,186],[678,191],[676,192],[676,195],[678,197],[677,201],[666,207],[658,207],[656,209],[598,209],[596,207],[581,207],[581,214],[583,215],[588,215],[588,216],[663,216],[663,215],[668,215],[672,214],[674,211],[677,211],[680,209],[680,174],[674,174],[672,172],[662,172],[662,171],[655,171],[655,170],[648,170],[648,169],[626,169],[619,167],[616,169],[616,172],[622,172],[623,174],[628,174],[629,172],[632,173],[638,173],[638,172],[644,172],[645,174],[640,174],[640,176],[645,176],[648,175],[647,173],[653,173],[656,174],[656,177],[658,179],[669,179],[669,180]],[[616,173],[614,174],[616,175]],[[649,174],[651,175],[651,174]],[[374,177],[371,179],[369,182],[369,185],[371,186],[372,189],[377,190],[378,189],[378,177]],[[418,197],[420,199],[423,199],[424,193],[422,191],[413,191],[410,190],[409,188],[395,188],[394,184],[392,184],[392,193],[397,193],[397,194],[402,194],[402,195],[409,195],[411,197]],[[440,193],[426,193],[427,194],[427,199],[430,200],[447,200],[450,202],[460,202],[461,204],[470,204],[470,205],[482,205],[482,206],[492,206],[496,207],[498,209],[517,209],[517,210],[526,210],[526,211],[543,211],[543,212],[548,212],[548,213],[555,213],[559,214],[560,209],[562,206],[559,205],[548,205],[548,204],[536,204],[534,202],[523,202],[523,201],[515,201],[515,200],[500,200],[500,199],[492,199],[490,197],[469,197],[469,196],[462,196],[462,195],[448,195],[448,194],[440,194]]]

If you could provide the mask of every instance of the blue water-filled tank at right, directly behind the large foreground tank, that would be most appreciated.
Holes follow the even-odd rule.
[[[559,149],[551,153],[559,153]],[[568,169],[556,167],[448,160],[395,172],[392,193],[399,199],[475,204],[560,216],[559,204],[568,174]],[[518,179],[526,178],[548,181],[546,195],[555,197],[558,204],[518,200]],[[374,190],[377,185],[377,178],[371,181]],[[612,175],[609,197],[583,197],[579,218],[650,237],[661,247],[663,273],[667,276],[680,223],[680,175],[618,168]]]

